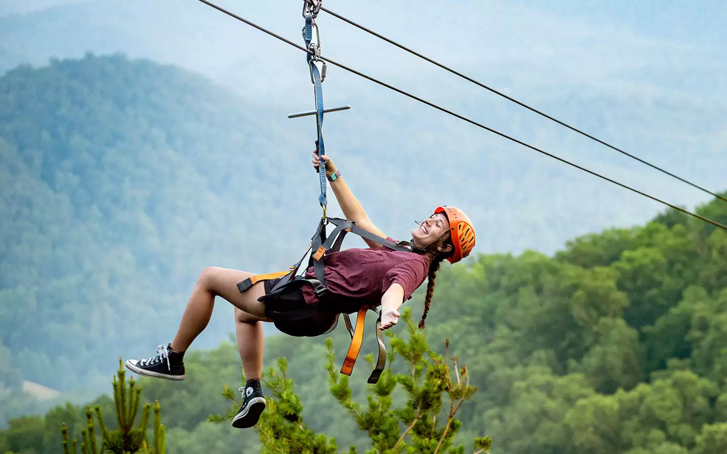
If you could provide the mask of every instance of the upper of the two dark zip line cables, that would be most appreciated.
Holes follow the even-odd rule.
[[[313,0],[303,0],[303,1],[305,1],[308,4],[313,4]],[[714,196],[715,198],[718,198],[718,199],[722,200],[723,202],[727,202],[727,198],[724,198],[722,195],[716,194],[715,192],[712,192],[710,190],[707,190],[704,187],[701,187],[699,185],[696,185],[695,183],[689,182],[688,180],[683,179],[682,177],[678,177],[678,175],[672,174],[671,172],[666,171],[666,170],[664,170],[664,169],[662,169],[662,168],[660,168],[658,166],[655,166],[652,163],[648,163],[647,161],[644,161],[643,159],[638,158],[635,155],[632,155],[630,153],[627,153],[624,150],[621,150],[620,148],[615,147],[614,145],[608,144],[607,142],[604,142],[603,140],[598,139],[597,137],[593,137],[592,135],[587,134],[586,132],[581,131],[580,129],[577,129],[574,126],[570,126],[569,124],[563,123],[563,121],[560,121],[557,118],[553,118],[552,116],[547,115],[547,113],[542,113],[540,110],[537,110],[536,108],[531,108],[529,105],[526,105],[523,102],[520,102],[518,100],[515,100],[515,98],[513,98],[513,97],[507,96],[507,94],[498,92],[496,89],[493,89],[493,88],[491,88],[489,86],[486,86],[485,84],[482,84],[479,81],[475,81],[475,79],[470,78],[468,76],[465,76],[464,74],[459,73],[456,70],[453,70],[451,68],[448,68],[448,67],[446,67],[445,65],[442,65],[439,62],[435,62],[435,60],[432,60],[429,57],[425,57],[424,55],[420,54],[419,52],[416,52],[416,51],[414,51],[412,49],[409,49],[408,47],[403,46],[402,44],[398,44],[396,41],[393,41],[392,39],[389,39],[386,36],[382,36],[381,34],[376,33],[375,31],[372,31],[369,28],[364,27],[364,25],[360,25],[358,23],[355,23],[355,22],[353,22],[353,20],[350,20],[350,19],[348,19],[346,17],[343,17],[342,15],[339,15],[336,12],[331,11],[330,9],[327,9],[325,7],[322,7],[321,5],[318,5],[318,8],[321,9],[321,11],[327,12],[329,15],[332,15],[333,17],[336,17],[337,19],[340,19],[340,20],[344,21],[345,23],[349,23],[350,25],[353,25],[354,27],[360,28],[361,30],[365,31],[366,33],[370,33],[371,35],[376,36],[377,38],[380,38],[380,39],[386,41],[389,44],[393,44],[394,46],[397,46],[398,48],[403,49],[406,52],[409,52],[411,54],[414,54],[417,57],[422,58],[423,60],[426,60],[427,62],[432,63],[433,65],[437,65],[439,68],[442,68],[443,70],[447,70],[450,73],[453,73],[453,74],[455,74],[455,75],[457,75],[457,76],[459,76],[461,78],[464,78],[465,80],[470,81],[470,82],[472,82],[475,85],[481,86],[484,89],[488,89],[490,92],[493,92],[495,94],[499,94],[499,96],[504,97],[507,100],[510,100],[512,102],[515,102],[516,104],[521,105],[523,108],[529,109],[529,110],[533,111],[534,113],[537,113],[539,115],[542,115],[545,118],[548,118],[548,119],[550,119],[552,121],[555,121],[556,123],[561,124],[562,126],[566,126],[566,128],[568,128],[568,129],[571,129],[573,131],[576,131],[577,133],[582,134],[585,137],[588,137],[589,139],[593,139],[596,142],[601,143],[602,145],[606,145],[606,147],[612,148],[612,149],[618,151],[619,153],[622,153],[624,155],[627,155],[630,158],[633,158],[636,161],[639,161],[640,163],[644,163],[644,164],[646,164],[647,166],[650,166],[653,169],[656,169],[658,171],[662,171],[662,172],[664,172],[664,174],[670,175],[671,177],[674,177],[674,178],[676,178],[676,179],[678,179],[678,180],[680,180],[682,182],[685,182],[687,185],[691,185],[692,187],[696,187],[696,189],[699,189],[699,190],[702,190],[704,192],[707,192],[707,194],[710,194],[710,195]]]

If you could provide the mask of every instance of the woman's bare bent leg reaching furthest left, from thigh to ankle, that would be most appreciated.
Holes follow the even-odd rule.
[[[185,352],[199,333],[204,331],[212,317],[216,296],[229,301],[242,312],[257,317],[257,320],[267,320],[265,305],[257,301],[265,292],[263,283],[256,283],[245,293],[240,293],[237,288],[239,282],[253,275],[252,272],[218,267],[202,270],[187,301],[177,334],[172,340],[172,350]],[[262,333],[262,326],[260,331]]]

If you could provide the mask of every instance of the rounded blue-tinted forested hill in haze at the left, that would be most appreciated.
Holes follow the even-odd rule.
[[[286,161],[278,148],[270,163],[253,152],[269,151],[258,121],[203,78],[121,56],[0,78],[0,342],[14,374],[105,386],[113,365],[100,358],[172,336],[202,268],[277,269],[298,255],[314,225],[289,219],[320,209],[315,192],[291,211],[299,195],[270,190],[269,175],[288,175],[290,192],[310,151]],[[260,236],[271,224],[274,241]],[[208,345],[231,315],[220,309]]]

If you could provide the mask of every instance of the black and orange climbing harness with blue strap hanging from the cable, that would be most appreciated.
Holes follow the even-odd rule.
[[[316,95],[316,110],[292,113],[288,115],[288,118],[300,118],[308,115],[316,115],[316,151],[318,152],[318,156],[321,159],[321,161],[319,161],[318,169],[316,169],[316,171],[318,171],[321,181],[321,193],[320,195],[318,195],[318,203],[320,203],[321,208],[323,208],[323,216],[318,222],[316,232],[313,234],[313,237],[308,244],[308,248],[306,249],[305,254],[303,254],[303,256],[296,264],[289,267],[287,271],[254,275],[242,281],[241,283],[238,283],[237,286],[238,290],[243,293],[251,288],[252,285],[260,281],[279,279],[278,282],[273,285],[273,288],[270,290],[270,292],[267,295],[262,296],[260,300],[265,300],[265,315],[273,320],[273,322],[276,324],[276,327],[278,327],[280,331],[288,333],[292,336],[320,336],[321,334],[330,333],[337,327],[338,315],[342,313],[345,320],[346,328],[348,329],[348,332],[351,336],[351,343],[348,348],[348,352],[346,353],[346,358],[341,367],[341,373],[347,376],[351,375],[353,371],[353,365],[356,363],[356,358],[358,357],[358,352],[361,350],[361,343],[364,339],[364,324],[366,322],[366,314],[369,309],[376,312],[377,315],[379,315],[376,321],[376,337],[379,346],[379,357],[377,360],[377,364],[374,367],[374,370],[371,372],[371,376],[369,376],[368,380],[369,383],[374,384],[379,381],[379,376],[381,376],[381,373],[384,370],[384,366],[386,364],[386,346],[383,341],[382,331],[379,329],[381,327],[381,312],[374,309],[374,306],[372,305],[366,305],[364,307],[358,308],[350,308],[351,310],[349,312],[345,312],[347,310],[347,308],[345,307],[334,307],[329,299],[330,295],[328,293],[328,289],[326,288],[326,281],[324,279],[324,257],[326,255],[326,252],[328,251],[340,251],[343,238],[345,237],[347,232],[353,232],[355,235],[358,235],[361,238],[372,240],[375,243],[386,246],[387,248],[391,248],[395,251],[411,252],[411,249],[405,248],[403,246],[398,246],[398,244],[393,243],[386,238],[379,237],[378,235],[374,235],[371,232],[363,230],[361,229],[361,227],[358,227],[356,225],[356,222],[353,222],[350,219],[329,218],[326,216],[326,163],[323,161],[322,158],[322,156],[325,154],[323,139],[323,115],[326,112],[348,110],[350,109],[350,106],[345,105],[337,108],[324,109],[322,84],[326,78],[326,62],[324,62],[320,58],[321,33],[318,29],[318,24],[316,24],[316,17],[318,16],[318,12],[321,9],[321,2],[322,0],[317,0],[309,3],[308,1],[304,0],[302,12],[303,18],[305,19],[305,26],[302,29],[302,35],[305,41],[306,49],[310,51],[306,54],[306,60],[308,62],[308,68],[310,72],[310,81],[313,83],[314,92]],[[316,28],[315,41],[313,40],[313,28]],[[321,70],[318,69],[318,65],[316,65],[317,62],[322,63]],[[334,230],[331,232],[330,235],[326,235],[327,224],[333,224],[335,226]],[[316,275],[315,278],[306,278],[304,276],[305,272],[303,272],[302,275],[297,275],[297,272],[300,269],[300,265],[302,264],[305,257],[308,256],[309,252],[310,258],[308,259],[308,267],[306,267],[306,270],[312,267]],[[284,296],[290,291],[300,290],[302,288],[302,285],[310,285],[310,287],[313,288],[313,293],[315,293],[316,297],[318,298],[318,304],[308,306],[304,303],[304,307],[284,307],[284,304],[281,303],[281,300],[284,299]],[[358,312],[356,316],[355,328],[351,324],[351,320],[349,317],[349,314],[353,312]],[[332,326],[326,326],[321,328],[320,326],[313,325],[312,322],[313,317],[316,317],[317,315],[334,315],[335,321]],[[286,322],[297,322],[297,326],[295,328],[292,328],[292,326],[286,324]],[[306,323],[310,324],[310,328],[308,329],[308,331],[306,331],[304,328],[301,328],[301,325]]]

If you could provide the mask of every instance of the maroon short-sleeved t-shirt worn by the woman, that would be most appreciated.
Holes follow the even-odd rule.
[[[390,237],[387,240],[395,242]],[[324,264],[326,288],[335,295],[333,301],[342,312],[353,312],[364,305],[378,306],[393,283],[401,285],[404,300],[409,299],[429,274],[427,257],[386,246],[327,252]],[[308,268],[305,277],[316,277],[313,267]],[[318,302],[310,285],[304,285],[302,290],[306,303]]]

